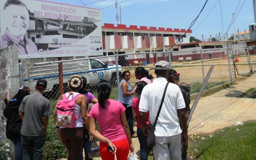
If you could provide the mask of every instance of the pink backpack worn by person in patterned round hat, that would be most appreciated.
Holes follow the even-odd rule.
[[[68,93],[67,93],[68,94]],[[66,127],[66,128],[74,128],[75,121],[78,117],[75,117],[75,101],[82,94],[77,94],[75,97],[73,93],[69,94],[72,96],[71,100],[69,96],[66,97],[66,94],[63,94],[63,100],[59,100],[57,103],[57,126]]]

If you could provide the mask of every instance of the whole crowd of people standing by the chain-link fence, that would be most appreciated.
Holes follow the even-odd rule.
[[[114,160],[114,155],[117,160],[126,160],[129,152],[135,152],[133,137],[139,139],[141,160],[147,160],[149,154],[153,154],[155,160],[187,159],[190,86],[180,82],[180,74],[166,61],[155,64],[154,80],[142,66],[138,66],[134,74],[139,82],[132,89],[128,82],[131,73],[123,71],[118,100],[110,99],[112,86],[107,80],[98,82],[96,98],[86,90],[85,77],[73,75],[69,78],[69,92],[59,97],[53,113],[57,134],[68,151],[68,160],[82,160],[83,150],[85,160],[92,160],[89,149],[95,139],[100,141],[99,153],[103,160]],[[15,144],[15,160],[43,158],[51,114],[49,100],[42,95],[46,87],[46,80],[38,80],[34,94],[30,95],[28,87],[21,87],[11,100],[5,101],[6,135]],[[90,110],[89,103],[93,103]],[[63,110],[64,105],[73,108]],[[59,114],[68,110],[73,110],[72,125],[72,114],[70,117]],[[137,122],[137,132],[133,130],[133,121]],[[149,148],[147,136],[155,121],[155,145]],[[96,128],[97,123],[100,131]]]

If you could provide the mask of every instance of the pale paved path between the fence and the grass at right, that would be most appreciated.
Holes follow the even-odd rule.
[[[238,79],[236,85],[200,98],[189,124],[189,135],[208,134],[233,126],[236,121],[255,120],[256,98],[240,96],[250,88],[256,89],[256,76]],[[204,123],[202,128],[199,127],[201,122]]]

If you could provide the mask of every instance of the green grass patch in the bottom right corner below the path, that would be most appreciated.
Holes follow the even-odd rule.
[[[189,155],[198,160],[255,160],[256,122],[225,128],[212,137],[192,135],[189,142]]]

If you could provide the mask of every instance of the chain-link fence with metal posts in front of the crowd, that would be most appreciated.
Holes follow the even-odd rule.
[[[24,67],[24,84],[28,85],[33,93],[37,80],[45,79],[48,81],[48,89],[45,92],[45,96],[47,98],[59,98],[60,93],[68,91],[67,82],[71,75],[80,75],[87,79],[88,91],[97,97],[96,85],[101,79],[105,79],[112,84],[110,98],[117,100],[118,86],[123,71],[130,71],[131,78],[129,83],[134,88],[135,83],[139,81],[134,74],[137,66],[143,66],[155,79],[154,64],[160,60],[165,60],[170,63],[172,69],[180,73],[181,82],[189,84],[191,86],[191,94],[194,94],[200,90],[211,65],[214,65],[215,68],[206,89],[235,79],[232,50],[233,48],[129,53],[31,63]],[[246,53],[245,49],[243,52]],[[240,57],[243,57],[245,53]],[[239,72],[240,65],[236,66]]]

